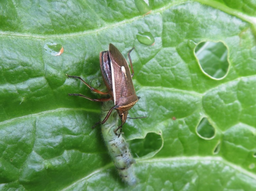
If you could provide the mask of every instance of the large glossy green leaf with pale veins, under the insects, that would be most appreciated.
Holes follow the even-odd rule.
[[[0,2],[1,190],[256,190],[255,1],[147,5]],[[155,43],[142,44],[139,34]],[[227,47],[221,79],[206,75],[195,55],[208,41]],[[101,104],[68,96],[100,97],[65,74],[106,91],[99,52],[109,43],[125,58],[135,47],[133,82],[141,98],[129,116],[147,116],[123,126],[136,160],[134,187],[119,177],[100,127],[91,129]],[[64,52],[53,56],[47,45]],[[214,128],[204,134],[213,136],[197,132],[202,119]]]

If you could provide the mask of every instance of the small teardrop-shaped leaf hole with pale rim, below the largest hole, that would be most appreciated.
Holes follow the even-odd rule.
[[[210,139],[215,134],[215,128],[210,124],[208,119],[204,117],[196,128],[196,132],[201,138]]]

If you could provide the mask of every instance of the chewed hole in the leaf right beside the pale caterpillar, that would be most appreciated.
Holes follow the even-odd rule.
[[[142,157],[157,152],[162,146],[162,138],[159,134],[148,133],[144,139],[129,141],[129,145],[134,158]]]

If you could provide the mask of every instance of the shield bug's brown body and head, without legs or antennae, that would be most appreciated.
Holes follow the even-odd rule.
[[[109,50],[99,53],[100,68],[109,94],[114,101],[114,109],[125,123],[129,109],[139,100],[134,90],[132,74],[121,52],[112,44]]]

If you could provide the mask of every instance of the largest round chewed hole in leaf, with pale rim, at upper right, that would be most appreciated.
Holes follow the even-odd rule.
[[[228,72],[228,50],[222,42],[202,42],[195,48],[195,55],[204,74],[213,79],[223,79]]]

